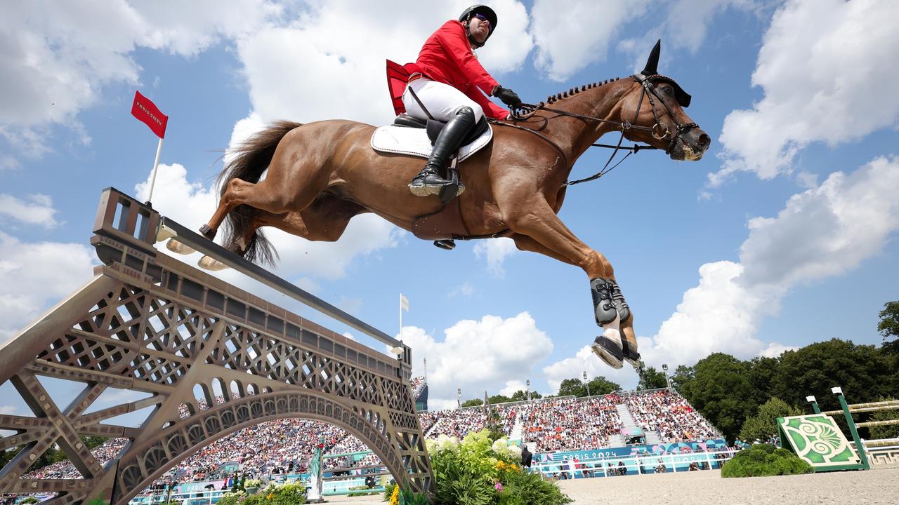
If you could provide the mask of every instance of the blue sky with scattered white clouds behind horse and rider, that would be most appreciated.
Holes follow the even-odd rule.
[[[878,343],[877,312],[897,297],[899,35],[889,1],[750,0],[492,4],[478,51],[525,102],[642,68],[693,95],[713,138],[699,162],[639,153],[569,190],[560,216],[605,254],[636,314],[648,365],[709,352],[749,359],[833,337]],[[466,3],[263,0],[17,3],[0,21],[0,340],[90,279],[90,226],[103,188],[144,196],[156,137],[129,115],[136,89],[169,115],[154,205],[196,227],[215,205],[220,150],[265,121],[392,120],[383,61],[414,60]],[[605,140],[612,140],[606,137]],[[573,177],[609,153],[583,155]],[[373,216],[336,244],[270,235],[275,270],[403,336],[432,404],[541,393],[602,375],[636,385],[586,350],[593,323],[583,271],[504,240],[448,253]],[[195,257],[184,257],[196,261]],[[440,267],[440,276],[422,270]],[[345,331],[288,298],[271,297]],[[358,334],[360,341],[374,342]],[[8,387],[8,385],[3,386]],[[17,407],[8,405],[6,411]]]

